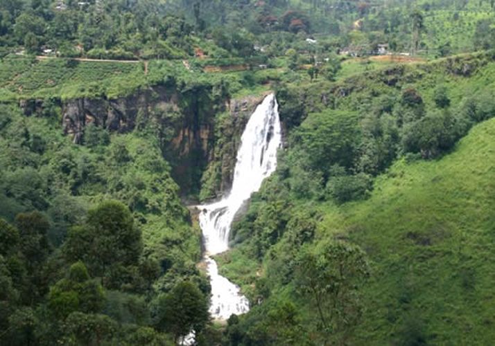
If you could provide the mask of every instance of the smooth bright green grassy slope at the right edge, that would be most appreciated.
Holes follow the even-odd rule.
[[[396,163],[367,201],[322,206],[320,236],[348,234],[372,260],[361,340],[415,323],[434,343],[494,340],[494,136],[489,120],[438,161]]]

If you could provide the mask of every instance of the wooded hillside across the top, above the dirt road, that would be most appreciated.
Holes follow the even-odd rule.
[[[150,60],[446,56],[492,48],[492,1],[6,1],[1,54]],[[315,42],[307,42],[312,37]],[[323,60],[321,57],[320,60]]]

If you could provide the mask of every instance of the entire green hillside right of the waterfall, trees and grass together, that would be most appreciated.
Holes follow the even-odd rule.
[[[456,75],[455,66],[467,65],[469,75]],[[494,71],[489,56],[474,55],[279,90],[281,116],[304,120],[234,225],[233,250],[218,258],[253,302],[263,301],[227,329],[231,338],[241,330],[240,345],[492,340],[495,121],[486,119],[495,115]],[[301,99],[306,109],[297,108]],[[485,121],[468,132],[475,113]],[[332,244],[359,246],[369,265],[369,277],[336,293],[349,294],[335,300],[340,307],[327,305],[335,293],[328,286],[320,303],[304,291],[311,275],[330,275]],[[308,254],[328,264],[312,272]],[[326,329],[318,304],[338,311],[328,312]],[[288,318],[288,329],[277,333],[273,316]]]

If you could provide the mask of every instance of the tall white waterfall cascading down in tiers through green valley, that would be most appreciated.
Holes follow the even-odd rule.
[[[218,320],[226,320],[232,313],[249,311],[249,302],[236,284],[218,275],[218,266],[211,256],[227,251],[234,215],[263,179],[277,167],[277,149],[281,145],[278,104],[274,94],[266,98],[252,113],[241,136],[237,152],[232,189],[222,200],[200,208],[200,227],[205,241],[205,262],[211,281],[209,312]]]

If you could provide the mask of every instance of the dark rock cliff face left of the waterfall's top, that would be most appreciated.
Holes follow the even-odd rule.
[[[240,100],[214,99],[210,91],[179,93],[155,86],[122,98],[57,100],[62,129],[73,143],[84,144],[85,127],[94,123],[125,133],[149,122],[157,128],[164,157],[182,193],[202,199],[220,197],[232,185],[236,153],[250,114],[264,95]],[[51,100],[53,102],[53,100]],[[42,116],[43,100],[22,100],[26,116]]]

